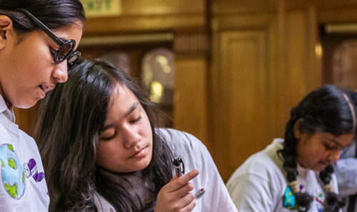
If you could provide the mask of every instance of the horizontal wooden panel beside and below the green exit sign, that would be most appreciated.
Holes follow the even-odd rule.
[[[84,37],[146,31],[202,31],[206,27],[203,0],[121,0],[122,14],[87,18]]]

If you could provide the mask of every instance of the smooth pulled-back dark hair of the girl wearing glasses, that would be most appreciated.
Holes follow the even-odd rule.
[[[51,29],[62,28],[86,20],[79,0],[0,0],[0,14],[14,21],[14,30],[19,34],[38,30],[34,21],[17,9],[26,9]]]

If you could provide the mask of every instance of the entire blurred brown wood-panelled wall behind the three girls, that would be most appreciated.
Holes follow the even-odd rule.
[[[291,107],[324,83],[357,88],[356,0],[82,0],[84,58],[151,90],[171,127],[206,144],[224,181],[283,137]],[[41,101],[15,109],[34,135]]]

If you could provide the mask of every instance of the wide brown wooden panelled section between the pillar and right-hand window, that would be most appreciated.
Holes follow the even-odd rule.
[[[214,101],[208,108],[214,157],[224,180],[273,137],[283,137],[291,107],[321,85],[316,7],[285,0],[266,6],[265,11],[213,16]]]

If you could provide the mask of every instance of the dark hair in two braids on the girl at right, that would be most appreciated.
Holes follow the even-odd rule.
[[[298,152],[293,127],[300,119],[300,130],[308,134],[316,132],[329,132],[335,136],[341,134],[356,133],[356,126],[351,111],[351,100],[346,100],[346,93],[334,85],[323,85],[310,92],[291,110],[291,117],[286,124],[285,141],[283,149],[279,154],[283,157],[283,169],[286,170],[288,182],[296,181],[298,171],[296,159]],[[350,101],[350,102],[348,102]],[[353,105],[353,104],[352,104]],[[355,111],[354,107],[353,110]],[[333,173],[332,164],[320,172],[319,177],[324,184],[329,184]],[[313,197],[306,193],[295,194],[296,204],[301,211],[308,211]],[[343,200],[337,194],[328,192],[326,194],[324,211],[338,211],[344,205]]]

